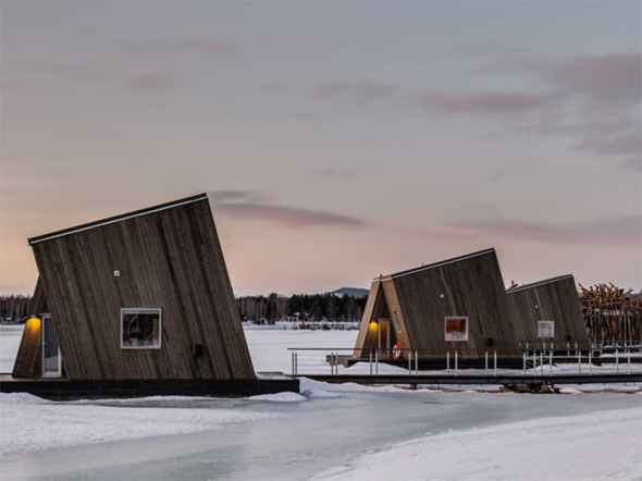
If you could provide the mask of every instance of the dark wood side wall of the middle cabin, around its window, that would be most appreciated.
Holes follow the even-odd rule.
[[[393,275],[412,348],[516,347],[521,328],[511,320],[495,250],[459,259]],[[468,341],[446,342],[444,319],[457,316],[468,317]]]

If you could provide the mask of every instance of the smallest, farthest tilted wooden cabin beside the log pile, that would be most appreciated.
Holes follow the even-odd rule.
[[[572,275],[534,282],[506,292],[514,318],[523,325],[520,341],[550,342],[559,347],[589,344],[580,299]]]

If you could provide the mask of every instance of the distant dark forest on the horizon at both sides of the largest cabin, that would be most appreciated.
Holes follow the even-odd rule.
[[[0,296],[0,322],[25,320],[30,313],[32,296]],[[297,318],[301,321],[360,321],[366,297],[336,296],[334,294],[296,294],[291,297],[279,294],[269,296],[244,296],[236,298],[243,319],[269,322]]]

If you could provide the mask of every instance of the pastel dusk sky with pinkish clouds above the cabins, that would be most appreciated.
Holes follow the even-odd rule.
[[[640,2],[0,9],[0,293],[27,237],[202,192],[236,295],[487,247],[642,287]]]

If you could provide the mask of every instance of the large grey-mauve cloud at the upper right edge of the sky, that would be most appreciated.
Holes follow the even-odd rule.
[[[570,136],[578,150],[642,170],[640,53],[546,60],[531,52],[504,50],[483,72],[536,77],[559,100],[518,130],[529,135]]]

